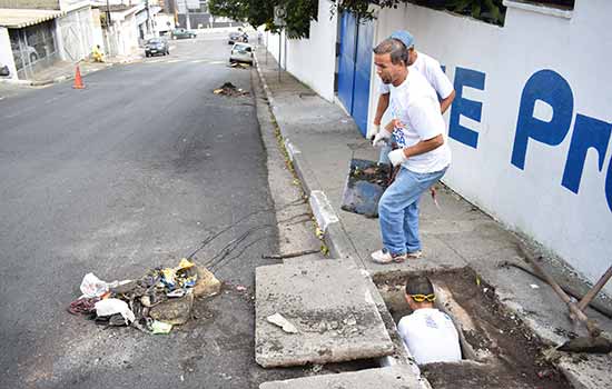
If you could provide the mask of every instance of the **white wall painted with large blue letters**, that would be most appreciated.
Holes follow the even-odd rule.
[[[413,4],[382,10],[376,40],[394,30],[408,29],[415,36],[417,51],[446,64],[451,81],[457,77],[457,67],[484,73],[484,90],[462,89],[463,98],[482,102],[480,122],[460,117],[462,126],[477,133],[477,146],[450,140],[453,164],[445,182],[511,228],[535,238],[594,281],[612,265],[612,141],[602,143],[606,144],[602,156],[595,149],[588,151],[578,193],[562,186],[562,179],[576,133],[576,114],[592,118],[586,119],[591,123],[595,122],[593,119],[606,122],[593,130],[598,133],[606,134],[612,127],[612,2],[576,0],[573,12],[565,17],[550,14],[554,12],[545,8],[529,11],[509,6],[504,27]],[[540,101],[525,104],[530,109],[524,117],[541,119],[546,133],[567,133],[557,146],[529,139],[521,169],[511,160],[522,93],[530,77],[544,69],[566,80],[573,108],[553,108],[542,101],[542,93],[559,84],[549,80],[534,92]],[[373,81],[373,88],[377,82]],[[555,101],[569,101],[560,96],[555,94]],[[376,99],[372,99],[371,118],[375,103]],[[456,109],[456,101],[452,109]],[[571,117],[571,126],[546,126],[563,114]],[[448,123],[448,113],[446,119]],[[534,130],[531,124],[521,129]],[[601,171],[599,156],[605,156]],[[570,164],[580,163],[573,160]],[[612,291],[612,285],[606,290]]]

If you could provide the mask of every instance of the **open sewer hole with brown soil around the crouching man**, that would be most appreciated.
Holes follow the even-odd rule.
[[[419,366],[433,388],[572,388],[543,357],[546,346],[542,340],[500,302],[495,288],[471,268],[374,277],[395,325],[411,313],[404,285],[406,276],[416,273],[430,277],[436,290],[436,308],[453,319],[460,332],[461,362]]]

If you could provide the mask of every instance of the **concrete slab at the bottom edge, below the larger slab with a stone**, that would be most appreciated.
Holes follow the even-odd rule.
[[[264,382],[259,389],[416,389],[423,388],[419,380],[406,366],[368,369],[339,375],[304,377],[286,381]]]

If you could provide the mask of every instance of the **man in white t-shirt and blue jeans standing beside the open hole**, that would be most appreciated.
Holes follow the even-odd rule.
[[[451,164],[436,93],[419,72],[407,67],[407,56],[405,46],[391,38],[374,49],[376,72],[389,86],[395,117],[373,144],[388,142],[393,133],[398,148],[388,158],[394,167],[402,167],[378,202],[383,249],[372,253],[377,263],[421,257],[418,200]]]

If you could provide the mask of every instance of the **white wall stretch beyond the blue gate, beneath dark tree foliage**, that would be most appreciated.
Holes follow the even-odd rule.
[[[287,64],[298,80],[310,87],[328,101],[334,101],[334,73],[336,69],[337,17],[329,14],[330,2],[319,0],[318,20],[310,22],[308,39],[289,39],[285,58],[285,34],[282,34],[280,64]],[[264,36],[263,43],[278,60],[278,34]],[[261,59],[260,59],[261,60]]]

